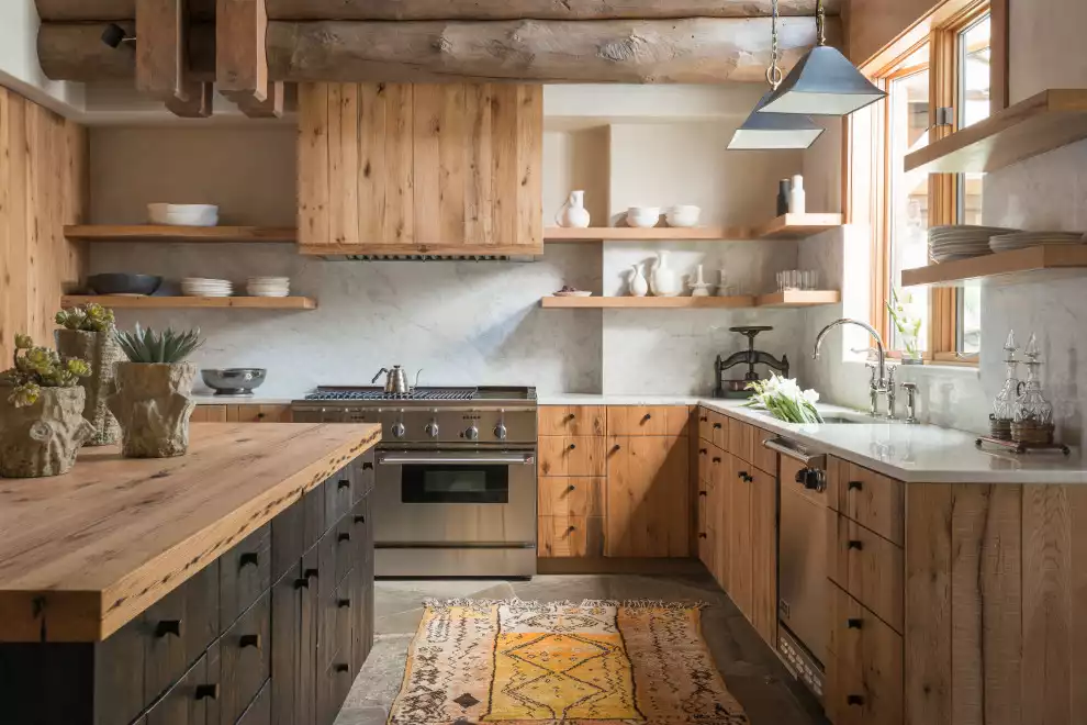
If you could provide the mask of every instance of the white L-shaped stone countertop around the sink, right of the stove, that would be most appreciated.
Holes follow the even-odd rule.
[[[1087,461],[1076,448],[1071,456],[1016,456],[979,450],[974,445],[977,435],[965,431],[882,422],[796,425],[743,408],[742,402],[690,395],[558,394],[539,399],[540,405],[705,405],[787,437],[810,453],[837,456],[907,483],[1087,483]],[[865,417],[837,405],[818,408],[823,413]]]

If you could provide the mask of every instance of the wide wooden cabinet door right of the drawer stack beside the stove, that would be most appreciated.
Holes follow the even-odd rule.
[[[685,437],[609,436],[607,556],[690,555]]]

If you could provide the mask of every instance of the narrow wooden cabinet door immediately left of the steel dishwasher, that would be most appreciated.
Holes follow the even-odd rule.
[[[751,489],[751,624],[777,647],[777,478],[755,469]]]

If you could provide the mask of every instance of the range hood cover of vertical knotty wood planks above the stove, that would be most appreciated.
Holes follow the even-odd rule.
[[[300,83],[303,254],[540,255],[544,89]]]

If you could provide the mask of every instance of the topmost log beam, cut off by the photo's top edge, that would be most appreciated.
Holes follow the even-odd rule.
[[[44,22],[132,20],[136,0],[35,0]],[[783,15],[815,14],[815,0],[781,0]],[[841,0],[827,0],[837,15]],[[650,20],[762,18],[771,0],[268,0],[272,20]],[[215,0],[190,0],[193,20],[215,18]]]

